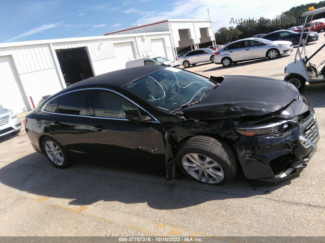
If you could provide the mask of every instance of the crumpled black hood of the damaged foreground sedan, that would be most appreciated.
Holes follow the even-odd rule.
[[[292,84],[279,79],[225,75],[222,83],[199,103],[182,111],[195,119],[256,117],[283,108],[298,94]]]

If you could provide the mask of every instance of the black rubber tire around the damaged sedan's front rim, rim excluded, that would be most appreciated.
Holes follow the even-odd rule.
[[[222,169],[224,173],[223,179],[221,181],[215,181],[214,183],[209,184],[224,185],[230,183],[235,178],[238,169],[237,158],[226,143],[212,137],[195,136],[185,141],[181,145],[176,155],[177,165],[187,176],[194,180],[200,181],[199,179],[189,175],[182,164],[183,157],[190,153],[200,154],[202,157],[209,157]],[[200,168],[198,167],[198,169]],[[200,182],[207,183],[203,181]]]

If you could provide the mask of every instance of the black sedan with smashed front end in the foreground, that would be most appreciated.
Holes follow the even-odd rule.
[[[250,76],[206,78],[143,66],[80,81],[24,121],[32,146],[58,168],[74,161],[231,182],[299,173],[316,151],[316,115],[290,83]]]

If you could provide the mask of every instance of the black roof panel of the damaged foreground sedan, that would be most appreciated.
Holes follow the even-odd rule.
[[[129,82],[132,82],[136,79],[139,79],[143,76],[146,76],[157,70],[167,68],[163,65],[149,65],[149,66],[140,66],[140,67],[129,67],[109,73],[104,73],[97,75],[95,77],[85,79],[69,85],[69,88],[78,87],[82,85],[91,85],[91,84],[113,84],[116,86],[123,86]]]

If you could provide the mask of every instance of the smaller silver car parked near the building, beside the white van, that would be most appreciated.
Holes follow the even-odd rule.
[[[185,55],[178,57],[178,61],[184,67],[195,65],[201,62],[214,62],[214,53],[216,51],[209,48],[201,48],[189,51]]]

